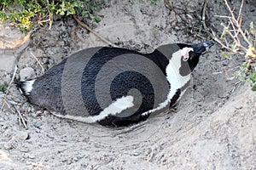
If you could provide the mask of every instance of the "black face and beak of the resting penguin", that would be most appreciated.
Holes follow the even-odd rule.
[[[201,43],[197,43],[197,44],[193,44],[193,45],[178,44],[179,48],[181,48],[181,49],[183,49],[183,48],[190,49],[188,51],[189,55],[187,56],[186,59],[184,59],[188,62],[190,71],[194,71],[195,66],[198,63],[201,54],[206,52],[213,45],[214,45],[214,43],[211,41],[201,42]]]

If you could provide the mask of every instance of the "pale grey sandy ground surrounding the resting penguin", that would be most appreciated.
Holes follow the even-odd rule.
[[[173,4],[193,17],[201,14],[202,1],[188,2]],[[256,18],[253,4],[245,3],[247,23]],[[219,11],[227,14],[224,3],[212,2],[209,7],[214,29],[221,32],[219,21],[212,16]],[[139,1],[110,1],[100,14],[102,22],[90,26],[119,47],[151,52],[164,43],[203,41],[182,31],[182,26],[174,26],[174,14],[163,2],[151,6]],[[58,19],[50,31],[40,28],[33,32],[29,47],[20,55],[18,71],[30,66],[41,76],[69,54],[100,45],[106,44],[72,18]],[[239,63],[241,59],[224,59],[216,45],[201,57],[177,111],[122,129],[52,116],[29,105],[13,85],[7,96],[9,105],[0,116],[0,168],[256,169],[256,94],[247,84],[229,78],[234,73],[230,69]],[[224,70],[230,71],[228,76]],[[1,83],[9,82],[11,73],[0,71],[0,77]],[[0,94],[1,103],[3,96]],[[19,123],[16,110],[26,119],[27,128]]]

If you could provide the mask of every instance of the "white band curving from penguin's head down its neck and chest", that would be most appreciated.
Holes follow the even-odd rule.
[[[171,102],[177,90],[179,88],[183,88],[183,86],[187,82],[189,82],[191,74],[189,73],[187,76],[183,77],[179,73],[179,71],[180,69],[189,69],[189,64],[186,66],[186,68],[181,68],[182,66],[181,60],[182,58],[184,61],[188,60],[190,51],[193,51],[193,48],[182,48],[178,50],[176,53],[172,54],[172,58],[169,60],[169,64],[166,66],[166,78],[167,78],[167,81],[171,84],[169,94],[167,95],[167,99],[164,102],[160,103],[159,106],[154,108],[153,110],[144,112],[143,116],[146,116],[154,111],[160,111],[161,109],[165,108]],[[185,90],[181,92],[178,99],[181,98]]]

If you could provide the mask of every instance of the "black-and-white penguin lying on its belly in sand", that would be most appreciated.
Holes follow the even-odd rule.
[[[86,48],[42,77],[19,82],[32,105],[53,115],[124,127],[168,111],[189,87],[191,72],[211,41],[172,43],[142,54],[126,48]]]

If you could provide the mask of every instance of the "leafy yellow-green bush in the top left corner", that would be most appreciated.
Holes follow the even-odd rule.
[[[104,2],[106,0],[0,0],[0,21],[9,20],[23,32],[30,31],[36,24],[49,23],[50,28],[54,14],[78,14],[100,22],[96,12],[102,9]]]

